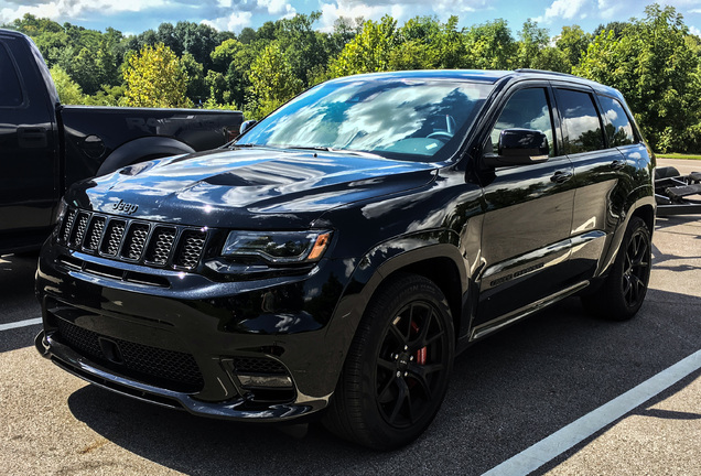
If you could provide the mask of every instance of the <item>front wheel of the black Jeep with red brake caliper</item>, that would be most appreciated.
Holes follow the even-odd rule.
[[[423,277],[398,277],[376,293],[360,321],[324,425],[375,450],[412,442],[443,402],[454,351],[441,290]]]

